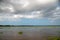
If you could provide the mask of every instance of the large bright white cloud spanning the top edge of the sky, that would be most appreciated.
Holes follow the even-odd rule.
[[[16,10],[31,10],[51,6],[56,4],[57,0],[6,0],[5,2],[11,3]]]

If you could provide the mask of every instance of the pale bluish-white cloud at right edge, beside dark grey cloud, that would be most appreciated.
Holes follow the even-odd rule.
[[[54,13],[52,13],[53,15],[48,18],[49,20],[51,20],[51,22],[55,22],[56,20],[60,19],[60,7],[56,7],[56,9],[54,10]]]

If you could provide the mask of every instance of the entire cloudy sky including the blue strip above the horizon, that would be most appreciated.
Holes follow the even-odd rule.
[[[60,0],[0,0],[0,25],[60,25]]]

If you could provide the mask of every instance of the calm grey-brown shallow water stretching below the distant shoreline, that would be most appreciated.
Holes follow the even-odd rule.
[[[0,27],[0,40],[47,40],[48,36],[59,37],[60,27]]]

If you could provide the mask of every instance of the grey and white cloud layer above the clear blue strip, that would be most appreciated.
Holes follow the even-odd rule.
[[[19,19],[60,20],[59,0],[2,0],[0,1],[0,21]]]

